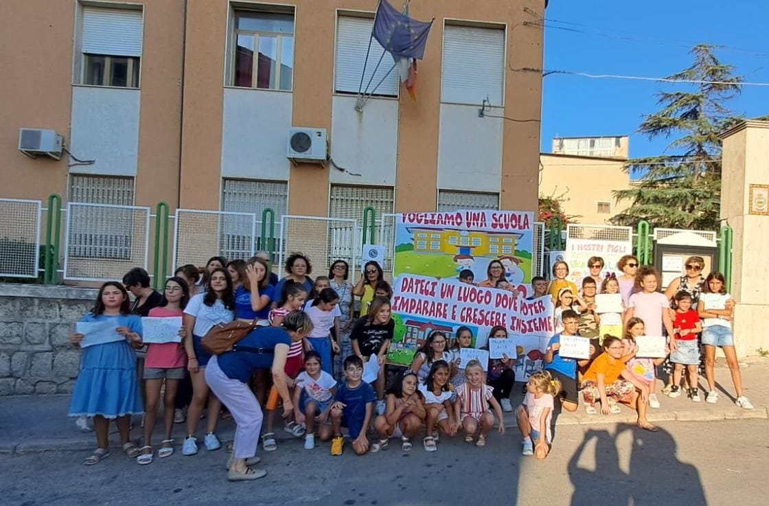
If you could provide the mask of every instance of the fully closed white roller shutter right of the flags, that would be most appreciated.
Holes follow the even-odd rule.
[[[503,105],[504,30],[446,26],[441,102]]]

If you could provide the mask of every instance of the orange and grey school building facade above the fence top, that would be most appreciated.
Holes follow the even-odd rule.
[[[406,3],[434,19],[415,99],[377,0],[5,0],[0,197],[534,210],[546,2]]]

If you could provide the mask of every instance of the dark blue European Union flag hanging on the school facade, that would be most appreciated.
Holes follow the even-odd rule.
[[[432,22],[414,21],[395,10],[387,0],[381,0],[374,23],[374,38],[393,56],[421,60],[431,26]]]

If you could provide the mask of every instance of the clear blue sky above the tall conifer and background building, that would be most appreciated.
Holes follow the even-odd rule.
[[[588,33],[545,28],[544,68],[589,74],[663,77],[691,65],[688,48],[705,42],[728,46],[717,52],[745,81],[769,82],[769,2],[742,0],[551,0],[546,18]],[[530,28],[535,29],[535,28]],[[762,54],[757,54],[762,53]],[[685,89],[619,79],[571,75],[544,78],[541,150],[556,136],[631,135],[631,157],[659,155],[664,138],[649,140],[634,131],[641,116],[657,111],[654,93]],[[735,112],[769,114],[769,87],[744,86],[728,103]]]

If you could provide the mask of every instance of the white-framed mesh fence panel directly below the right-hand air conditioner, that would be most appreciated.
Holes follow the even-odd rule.
[[[351,218],[321,218],[318,216],[283,215],[281,217],[279,265],[288,255],[301,252],[315,265],[313,275],[325,275],[336,260],[350,264],[358,271],[361,241],[355,220]]]

